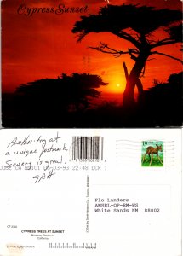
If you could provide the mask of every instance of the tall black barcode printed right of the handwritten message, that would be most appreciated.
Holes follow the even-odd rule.
[[[104,137],[72,137],[72,160],[103,160]]]

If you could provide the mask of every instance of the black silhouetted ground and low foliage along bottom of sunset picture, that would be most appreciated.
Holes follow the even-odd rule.
[[[90,79],[90,75],[87,78]],[[94,78],[97,83],[103,83],[98,76]],[[67,86],[74,86],[74,93],[65,86],[67,79],[70,81]],[[79,89],[84,88],[83,82],[86,82],[80,81],[83,75],[77,75],[79,84],[73,79],[66,76],[63,81],[51,80],[51,84],[49,79],[41,79],[20,86],[14,94],[3,94],[3,127],[143,128],[182,125],[182,73],[172,74],[167,83],[156,82],[150,90],[144,90],[142,96],[137,97],[133,108],[124,108],[123,104],[117,104],[117,95],[106,94],[102,98],[92,88],[99,84],[93,85],[91,82],[89,90]],[[122,95],[118,97],[122,102]]]

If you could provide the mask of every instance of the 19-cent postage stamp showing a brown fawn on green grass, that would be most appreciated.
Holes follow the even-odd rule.
[[[163,142],[143,141],[141,148],[141,166],[163,166]]]

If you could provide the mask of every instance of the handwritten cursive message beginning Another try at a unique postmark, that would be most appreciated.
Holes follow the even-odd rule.
[[[58,131],[53,136],[45,136],[40,132],[35,137],[28,134],[11,137],[7,141],[2,152],[4,162],[1,163],[1,170],[41,171],[33,177],[34,183],[39,183],[53,177],[56,170],[67,169],[69,143]]]

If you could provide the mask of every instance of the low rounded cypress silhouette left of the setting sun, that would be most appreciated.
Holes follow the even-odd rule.
[[[62,73],[58,79],[39,79],[17,88],[14,110],[28,125],[66,125],[72,122],[72,115],[82,115],[92,107],[91,99],[100,96],[96,89],[102,85],[106,83],[100,76],[88,73]]]

